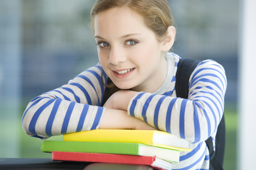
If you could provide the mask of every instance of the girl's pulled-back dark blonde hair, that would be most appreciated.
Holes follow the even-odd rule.
[[[173,16],[167,0],[97,0],[91,10],[91,26],[97,14],[114,7],[129,7],[144,17],[149,29],[155,32],[159,41],[167,35],[168,26],[174,26]]]

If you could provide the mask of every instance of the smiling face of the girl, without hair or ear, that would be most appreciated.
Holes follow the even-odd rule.
[[[123,90],[153,92],[164,83],[164,42],[130,8],[111,8],[95,16],[98,58],[115,85]]]

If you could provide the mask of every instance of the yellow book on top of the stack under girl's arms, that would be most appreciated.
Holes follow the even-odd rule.
[[[97,129],[63,135],[64,141],[121,142],[153,145],[180,151],[191,151],[189,142],[159,130]]]

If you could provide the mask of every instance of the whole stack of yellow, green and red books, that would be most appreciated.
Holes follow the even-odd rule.
[[[158,130],[97,129],[63,135],[63,141],[43,141],[41,150],[53,160],[124,163],[171,169],[189,143]]]

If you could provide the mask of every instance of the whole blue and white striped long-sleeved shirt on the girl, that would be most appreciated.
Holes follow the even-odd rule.
[[[190,76],[188,99],[176,97],[176,70],[180,57],[167,53],[168,74],[155,93],[138,93],[130,100],[128,114],[156,129],[189,141],[191,152],[181,152],[173,169],[209,169],[205,140],[215,139],[223,115],[226,76],[222,65],[205,60]],[[67,85],[31,100],[22,118],[25,132],[45,139],[53,135],[98,129],[105,108],[107,76],[101,65],[83,71]],[[215,144],[215,140],[213,140]]]

